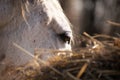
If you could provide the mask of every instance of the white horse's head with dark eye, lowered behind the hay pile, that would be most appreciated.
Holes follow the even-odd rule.
[[[71,50],[71,39],[70,23],[57,0],[0,0],[0,66],[32,59],[13,43],[34,54],[35,48]]]

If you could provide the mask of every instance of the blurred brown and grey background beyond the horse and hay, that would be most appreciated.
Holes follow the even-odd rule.
[[[120,0],[59,0],[75,34],[120,33]]]

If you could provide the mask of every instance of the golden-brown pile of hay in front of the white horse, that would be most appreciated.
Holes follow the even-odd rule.
[[[120,80],[120,38],[84,33],[79,41],[73,55],[56,55],[47,62],[37,59],[12,74],[20,80]]]

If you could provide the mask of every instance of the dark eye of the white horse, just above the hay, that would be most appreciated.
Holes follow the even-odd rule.
[[[72,33],[70,31],[58,34],[58,36],[63,42],[68,43],[68,44],[70,44],[72,40]]]

